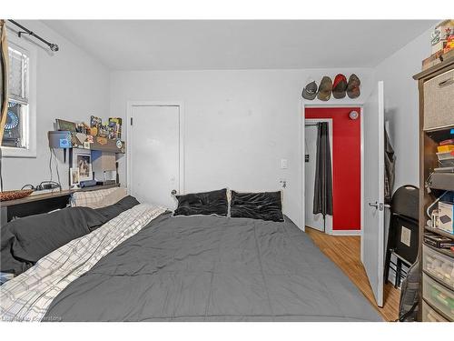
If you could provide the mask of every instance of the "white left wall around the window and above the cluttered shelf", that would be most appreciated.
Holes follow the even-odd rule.
[[[5,190],[49,180],[47,131],[54,129],[55,118],[89,122],[90,115],[109,115],[109,70],[39,21],[21,21],[25,27],[60,46],[49,55],[37,47],[36,72],[36,157],[3,158]],[[12,34],[12,31],[10,31]],[[68,164],[57,151],[61,182],[68,186]],[[56,175],[54,171],[54,180]]]

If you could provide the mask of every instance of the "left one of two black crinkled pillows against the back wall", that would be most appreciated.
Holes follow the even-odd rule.
[[[173,216],[227,216],[229,211],[227,188],[176,196],[176,199],[178,200],[178,207],[173,212]]]

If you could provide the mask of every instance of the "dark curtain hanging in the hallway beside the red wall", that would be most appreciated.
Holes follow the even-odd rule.
[[[317,128],[317,160],[315,165],[313,214],[317,215],[321,213],[325,222],[326,215],[332,216],[330,132],[327,122],[319,122]]]

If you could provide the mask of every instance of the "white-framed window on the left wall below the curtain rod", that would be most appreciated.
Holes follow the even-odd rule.
[[[10,31],[11,32],[11,31]],[[8,36],[8,110],[2,154],[35,157],[35,47],[14,34]]]

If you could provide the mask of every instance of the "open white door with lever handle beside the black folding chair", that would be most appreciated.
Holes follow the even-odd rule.
[[[378,306],[383,306],[384,229],[384,103],[379,82],[364,104],[364,207],[362,262]]]

